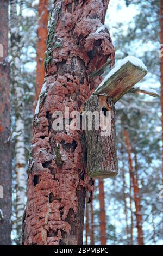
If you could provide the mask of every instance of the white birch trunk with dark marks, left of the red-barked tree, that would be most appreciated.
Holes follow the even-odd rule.
[[[16,217],[17,236],[21,242],[22,236],[22,216],[26,204],[26,157],[24,143],[24,113],[23,113],[23,83],[21,81],[20,63],[20,19],[22,2],[20,3],[20,15],[17,15],[17,0],[11,0],[11,54],[12,54],[12,85],[14,88],[15,106],[15,172],[16,172]]]

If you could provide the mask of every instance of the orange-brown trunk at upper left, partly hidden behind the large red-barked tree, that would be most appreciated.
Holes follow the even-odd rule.
[[[46,40],[48,35],[48,0],[39,1],[39,22],[37,30],[37,70],[36,70],[36,92],[34,109],[36,108],[37,101],[41,92],[43,79],[45,77],[45,70],[43,68],[43,60],[46,51]]]

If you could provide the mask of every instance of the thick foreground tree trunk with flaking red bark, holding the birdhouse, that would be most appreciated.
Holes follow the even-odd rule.
[[[86,175],[79,131],[54,131],[52,114],[65,106],[78,111],[90,96],[87,74],[110,57],[114,47],[104,23],[109,0],[54,1],[45,59],[46,93],[33,125],[28,166],[24,245],[81,245]],[[97,77],[90,84],[94,90]]]

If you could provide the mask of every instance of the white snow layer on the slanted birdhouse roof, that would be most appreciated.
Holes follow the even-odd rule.
[[[141,69],[144,69],[147,72],[147,67],[146,65],[142,62],[141,59],[134,57],[134,56],[127,56],[126,58],[124,58],[120,64],[116,65],[109,73],[108,75],[105,76],[104,80],[101,82],[101,84],[99,84],[99,86],[97,87],[97,89],[95,90],[95,92],[97,92],[97,90],[103,86],[103,84],[112,76],[114,75],[120,68],[122,68],[122,66],[124,66],[127,62],[132,63],[134,66],[138,66]]]

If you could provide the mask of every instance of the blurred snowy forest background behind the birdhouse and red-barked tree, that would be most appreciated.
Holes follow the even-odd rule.
[[[17,2],[16,9],[14,2]],[[47,11],[50,14],[52,0],[44,2],[48,3]],[[38,40],[41,20],[39,0],[12,0],[11,3],[9,61],[11,141],[14,146],[11,241],[17,245],[21,243],[22,215],[26,204],[25,173],[37,99],[36,87],[41,80],[38,63],[43,63],[43,57],[37,56],[45,49],[41,40]],[[159,0],[111,0],[105,26],[109,28],[115,46],[116,64],[128,55],[143,60],[148,74],[136,87],[160,95],[159,9]],[[46,23],[47,18],[43,19]],[[43,33],[47,38],[46,24]],[[163,103],[163,99],[161,101]],[[159,198],[163,175],[160,99],[147,94],[129,93],[115,107],[119,174],[116,178],[96,180],[93,202],[85,206],[84,244],[162,245],[162,199]],[[18,166],[18,161],[21,166]],[[25,175],[23,179],[20,179],[19,172]],[[134,175],[134,183],[131,175]],[[135,197],[141,205],[140,212],[135,209]],[[143,234],[137,223],[141,219]]]

